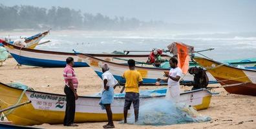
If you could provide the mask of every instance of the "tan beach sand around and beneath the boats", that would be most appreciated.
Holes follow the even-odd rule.
[[[64,94],[63,68],[39,68],[32,66],[16,67],[13,58],[7,59],[3,66],[0,66],[1,83],[23,83],[40,92]],[[101,79],[94,71],[87,68],[74,68],[79,81],[78,95],[90,95],[100,92]],[[219,86],[211,84],[209,86]],[[142,86],[141,89],[162,88],[160,86]],[[188,89],[190,87],[184,87]],[[115,92],[120,92],[116,88]],[[248,95],[228,94],[224,88],[216,88],[215,95],[211,99],[210,107],[207,110],[199,111],[202,115],[211,117],[206,123],[175,124],[168,126],[138,126],[131,124],[118,124],[116,128],[256,128],[256,97]],[[65,127],[62,124],[41,124],[39,128],[102,128],[106,123],[79,123],[78,127]]]

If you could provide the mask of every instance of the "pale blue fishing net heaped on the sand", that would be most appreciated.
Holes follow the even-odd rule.
[[[211,121],[211,117],[203,116],[191,106],[184,103],[173,103],[165,99],[152,100],[140,106],[138,121],[134,123],[134,114],[127,118],[128,124],[167,125],[200,123]]]

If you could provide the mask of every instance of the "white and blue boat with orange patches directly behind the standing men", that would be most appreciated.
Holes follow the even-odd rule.
[[[96,57],[92,57],[91,55],[87,54],[77,54],[79,57],[85,61],[85,63],[89,64],[89,66],[96,72],[96,74],[101,77],[101,64],[107,63],[110,66],[111,73],[114,75],[116,80],[118,80],[120,83],[125,83],[125,79],[123,79],[122,75],[125,70],[127,70],[129,67],[126,64],[119,64],[119,63],[113,63],[109,61],[105,61],[103,59],[99,59]],[[164,72],[169,71],[169,68],[155,68],[155,67],[144,67],[144,66],[136,66],[136,70],[140,72],[142,75],[144,81],[143,83],[156,83],[156,79],[163,76]],[[187,74],[184,77],[182,77],[184,82],[186,81],[193,81],[194,77],[193,75]],[[214,83],[216,80],[213,77],[209,77],[209,82]]]

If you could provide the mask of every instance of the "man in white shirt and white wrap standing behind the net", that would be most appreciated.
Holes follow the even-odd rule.
[[[171,57],[169,60],[171,70],[167,79],[158,78],[157,81],[168,81],[167,91],[165,98],[173,101],[178,101],[180,97],[180,77],[182,76],[182,70],[178,68],[178,60],[175,57]]]

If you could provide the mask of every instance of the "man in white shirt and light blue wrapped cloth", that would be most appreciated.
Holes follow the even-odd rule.
[[[103,126],[103,128],[114,128],[114,123],[112,120],[112,110],[111,103],[114,101],[114,88],[118,84],[118,81],[109,72],[109,64],[102,65],[102,80],[103,80],[103,92],[100,99],[100,105],[103,110],[107,112],[107,119],[109,123]]]

